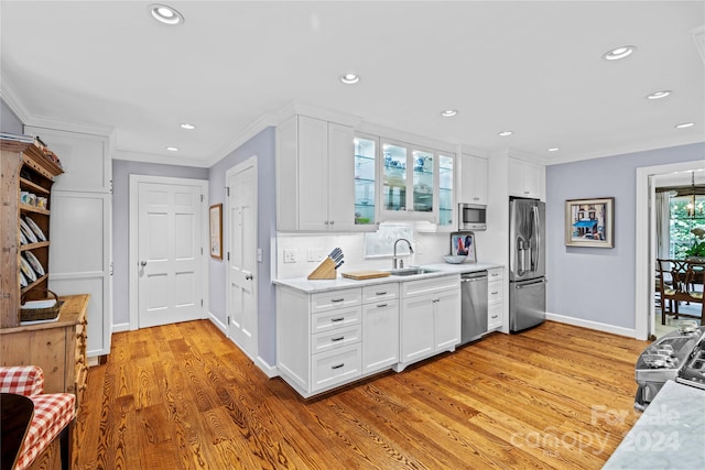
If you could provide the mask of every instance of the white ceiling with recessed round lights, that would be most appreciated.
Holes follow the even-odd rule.
[[[195,166],[291,102],[546,164],[705,141],[705,1],[162,1],[178,26],[150,3],[1,0],[2,98],[110,133],[116,157]]]

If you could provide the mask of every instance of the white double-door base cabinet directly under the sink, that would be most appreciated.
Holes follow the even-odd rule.
[[[409,281],[401,286],[400,357],[395,370],[460,342],[460,276]]]

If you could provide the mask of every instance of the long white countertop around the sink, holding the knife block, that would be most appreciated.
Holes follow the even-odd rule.
[[[335,280],[307,280],[306,277],[294,277],[290,280],[273,280],[272,282],[275,285],[291,287],[297,291],[305,292],[307,294],[313,294],[317,292],[330,292],[330,291],[338,291],[341,288],[364,287],[367,285],[384,284],[390,282],[400,283],[405,281],[417,281],[421,278],[447,276],[451,274],[471,273],[476,271],[485,271],[492,267],[503,267],[503,266],[501,264],[492,264],[492,263],[460,263],[460,264],[437,263],[437,264],[424,264],[421,267],[433,270],[435,272],[424,273],[424,274],[414,274],[414,275],[408,275],[408,276],[375,277],[371,280],[362,280],[362,281],[349,280],[347,277],[343,277],[340,273],[338,273],[338,277]]]

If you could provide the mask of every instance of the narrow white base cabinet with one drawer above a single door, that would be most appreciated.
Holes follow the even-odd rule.
[[[362,373],[399,362],[399,284],[362,287]]]

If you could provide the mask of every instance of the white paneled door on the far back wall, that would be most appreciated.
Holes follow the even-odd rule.
[[[138,184],[140,328],[204,318],[199,183]]]

